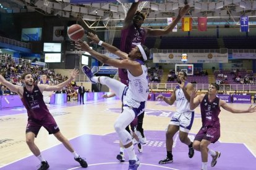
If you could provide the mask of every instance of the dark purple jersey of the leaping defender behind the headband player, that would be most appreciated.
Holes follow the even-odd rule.
[[[145,39],[146,39],[145,30],[143,28],[140,28],[139,30],[137,30],[135,26],[132,24],[128,28],[123,29],[121,31],[120,50],[129,54],[129,52],[132,51],[132,48],[134,48],[135,46],[139,44],[143,45],[145,43]],[[127,76],[127,70],[119,68],[118,76],[121,82],[128,86],[129,81]]]

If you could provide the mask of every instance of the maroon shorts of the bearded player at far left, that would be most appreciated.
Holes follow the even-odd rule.
[[[45,127],[49,134],[55,134],[56,132],[59,132],[59,127],[56,121],[54,120],[52,115],[49,115],[43,120],[28,119],[26,133],[33,132],[36,137],[42,126]]]

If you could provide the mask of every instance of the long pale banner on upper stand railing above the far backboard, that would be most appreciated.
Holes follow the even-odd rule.
[[[153,53],[153,63],[183,63],[181,53]],[[186,63],[228,63],[228,53],[187,53]]]

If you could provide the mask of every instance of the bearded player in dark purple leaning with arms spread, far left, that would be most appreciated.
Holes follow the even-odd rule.
[[[49,113],[48,108],[43,101],[43,91],[59,91],[67,84],[69,84],[72,79],[75,78],[79,73],[78,70],[73,70],[70,73],[70,78],[66,81],[58,84],[56,86],[48,86],[46,84],[34,83],[34,79],[31,73],[24,73],[22,75],[22,80],[25,83],[25,87],[17,86],[9,81],[6,81],[3,76],[0,75],[0,83],[4,84],[6,87],[9,87],[12,92],[15,92],[19,95],[22,100],[23,105],[27,109],[28,113],[28,123],[26,127],[26,142],[31,152],[40,160],[41,166],[38,170],[46,170],[49,168],[48,162],[43,158],[39,148],[35,145],[35,137],[37,136],[40,128],[43,126],[49,132],[49,134],[54,134],[54,136],[62,142],[62,144],[74,155],[75,161],[80,163],[80,166],[87,168],[87,162],[80,158],[79,155],[75,152],[72,145],[69,143],[69,140],[64,137],[59,131],[58,124],[54,120],[51,113]],[[22,168],[20,168],[22,169]]]

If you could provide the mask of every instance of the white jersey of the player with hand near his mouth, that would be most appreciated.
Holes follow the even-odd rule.
[[[186,85],[187,85],[187,83],[184,84],[184,86],[186,86]],[[192,110],[190,110],[189,101],[187,101],[181,87],[179,87],[179,86],[176,87],[175,94],[176,94],[177,112],[183,113],[183,112],[187,112],[187,111],[192,111]]]

